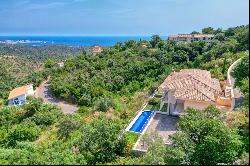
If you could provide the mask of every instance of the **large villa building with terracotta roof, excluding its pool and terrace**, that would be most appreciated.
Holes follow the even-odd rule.
[[[222,95],[219,80],[200,69],[173,71],[158,90],[163,94],[160,110],[166,104],[168,115],[179,115],[188,107],[205,109],[216,105],[217,97]]]

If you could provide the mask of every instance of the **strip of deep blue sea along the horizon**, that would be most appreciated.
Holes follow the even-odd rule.
[[[167,38],[161,36],[162,39]],[[128,40],[150,40],[151,36],[0,36],[0,44],[29,46],[66,45],[66,46],[112,46]]]

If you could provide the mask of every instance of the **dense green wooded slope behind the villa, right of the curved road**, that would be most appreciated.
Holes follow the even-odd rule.
[[[156,88],[172,68],[206,69],[224,80],[227,68],[246,54],[248,26],[208,33],[215,33],[217,40],[211,44],[176,44],[153,36],[149,42],[117,43],[97,56],[82,54],[68,59],[63,68],[53,72],[51,91],[65,100],[92,107],[102,98],[111,100],[112,96],[131,96],[144,88]]]

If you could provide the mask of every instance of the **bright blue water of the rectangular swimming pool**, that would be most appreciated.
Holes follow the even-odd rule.
[[[143,111],[129,131],[141,133],[144,127],[147,125],[152,114],[152,111]]]

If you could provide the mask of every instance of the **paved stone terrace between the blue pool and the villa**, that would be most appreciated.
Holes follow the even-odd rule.
[[[145,128],[142,135],[149,134],[152,131],[157,131],[157,133],[163,138],[165,144],[170,144],[169,136],[176,132],[176,124],[179,117],[169,116],[156,112],[152,120],[148,124],[148,127]],[[146,151],[148,145],[141,141],[141,137],[137,140],[133,150],[135,151]]]

